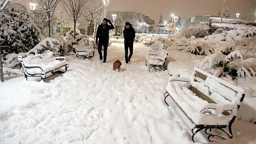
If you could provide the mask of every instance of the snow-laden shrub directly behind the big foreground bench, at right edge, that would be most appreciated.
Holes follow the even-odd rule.
[[[236,58],[240,58],[240,61]],[[256,78],[256,59],[243,60],[243,55],[239,50],[233,51],[227,56],[220,52],[206,56],[199,68],[224,80],[223,77],[228,79],[245,78],[245,76],[250,79]]]

